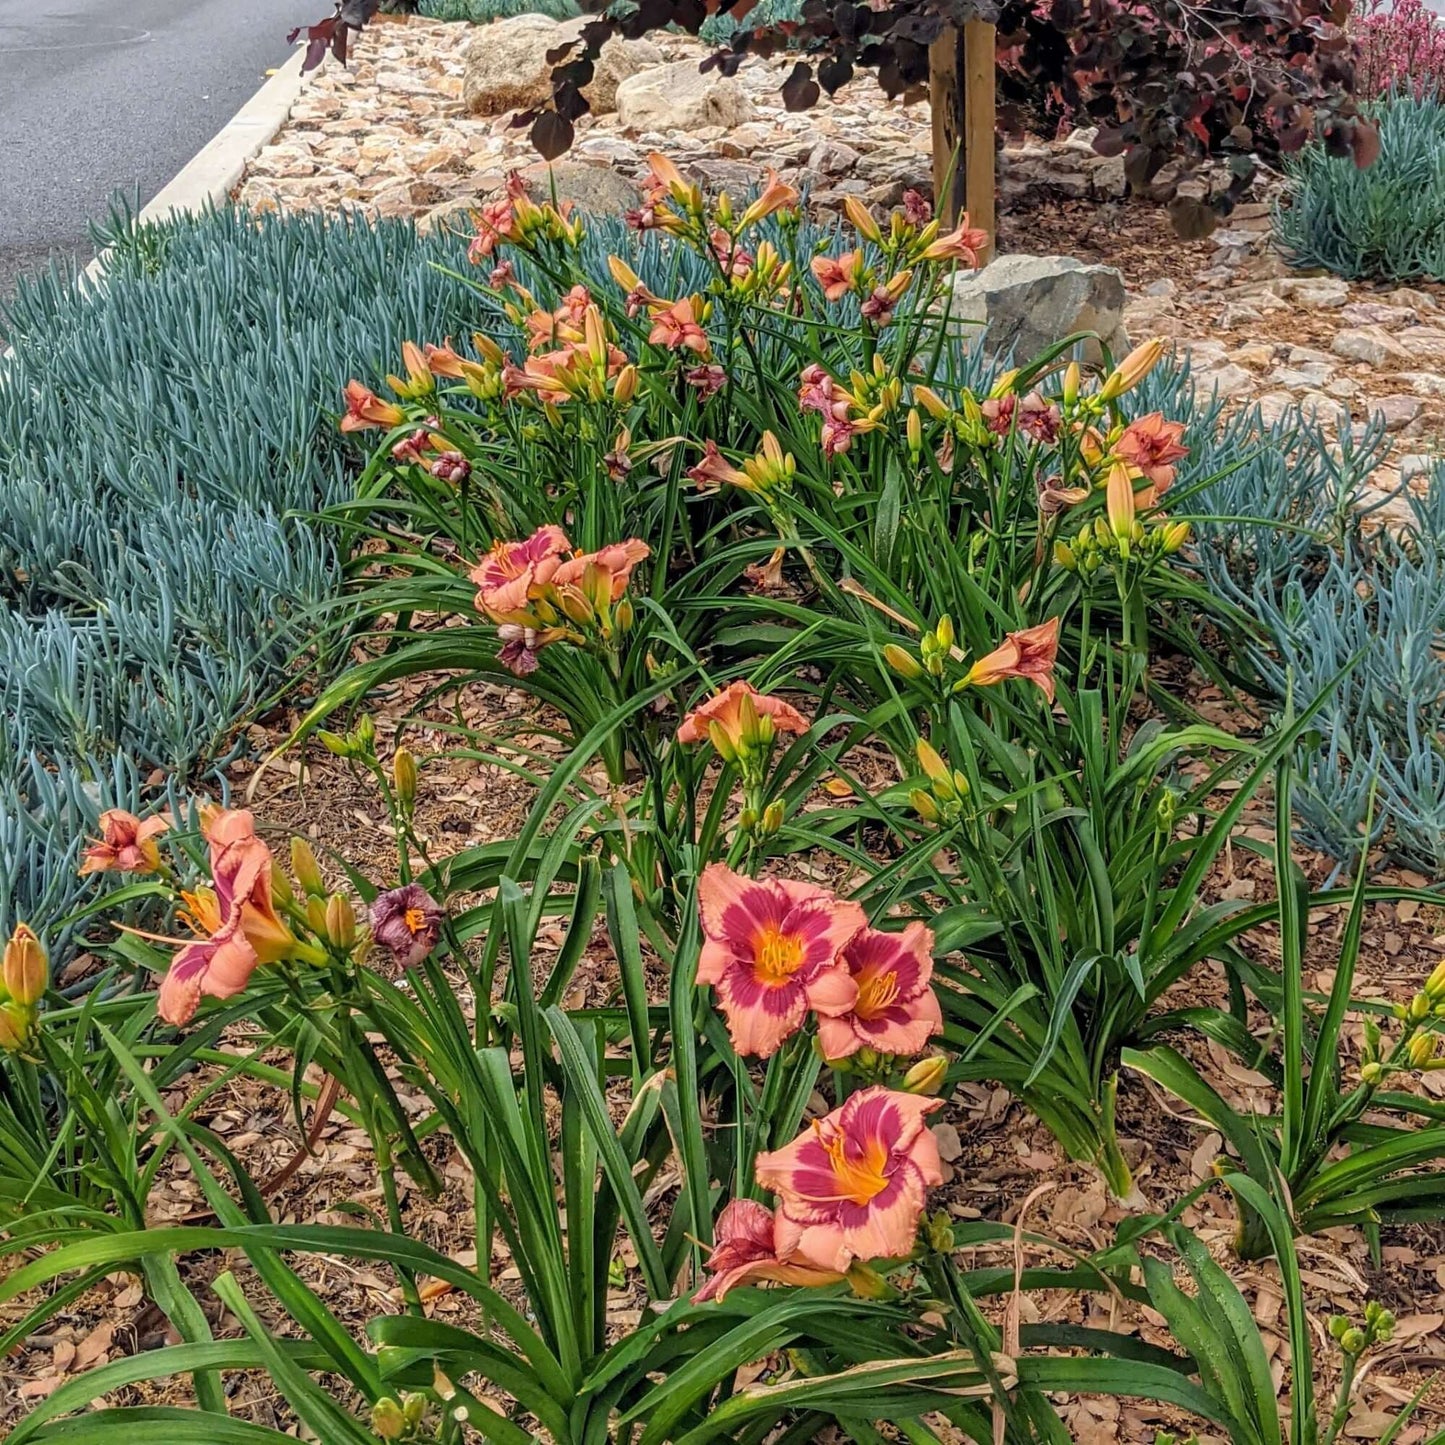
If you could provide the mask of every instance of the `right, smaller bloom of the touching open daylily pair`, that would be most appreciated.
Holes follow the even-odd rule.
[[[933,933],[909,923],[902,933],[866,928],[842,951],[842,965],[858,985],[848,1013],[818,1020],[825,1059],[845,1059],[858,1049],[919,1053],[944,1032],[944,1013],[932,988]]]

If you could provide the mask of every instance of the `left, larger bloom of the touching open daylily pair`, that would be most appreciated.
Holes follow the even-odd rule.
[[[754,880],[712,863],[698,884],[698,983],[717,990],[733,1048],[770,1058],[803,1023],[847,1013],[858,997],[838,962],[867,923],[857,903],[786,879]]]

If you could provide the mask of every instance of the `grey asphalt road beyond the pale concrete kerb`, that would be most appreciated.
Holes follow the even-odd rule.
[[[90,260],[116,191],[144,204],[286,59],[328,0],[0,0],[0,299]]]

